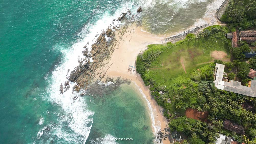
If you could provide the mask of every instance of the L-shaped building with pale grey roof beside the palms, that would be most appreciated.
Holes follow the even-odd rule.
[[[214,71],[214,84],[218,89],[256,97],[256,81],[251,80],[250,87],[241,85],[241,82],[228,80],[228,77],[224,77],[225,65],[216,63]]]

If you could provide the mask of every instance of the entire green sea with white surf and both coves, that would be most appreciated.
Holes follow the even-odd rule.
[[[73,97],[84,91],[72,93],[70,83],[71,88],[60,94],[60,85],[67,81],[68,70],[84,58],[83,46],[89,42],[90,47],[95,35],[127,9],[136,15],[142,6],[144,13],[135,19],[150,32],[166,34],[202,21],[211,4],[211,0],[0,1],[0,143],[153,143],[150,112],[134,85],[121,85],[100,98],[86,94],[76,100]],[[168,11],[158,11],[161,7]],[[97,141],[97,137],[133,141]]]

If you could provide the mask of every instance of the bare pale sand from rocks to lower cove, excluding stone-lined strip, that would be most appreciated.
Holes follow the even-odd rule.
[[[116,31],[116,39],[120,39],[121,30]],[[140,74],[132,71],[128,72],[129,65],[135,66],[135,60],[138,53],[147,49],[147,45],[163,43],[163,37],[152,35],[148,32],[141,31],[140,27],[136,27],[135,24],[128,26],[127,32],[125,32],[121,38],[119,45],[116,45],[111,59],[103,62],[103,66],[98,70],[100,73],[106,73],[102,81],[105,81],[106,77],[122,77],[124,79],[134,82],[145,94],[149,101],[154,115],[154,121],[156,127],[161,127],[161,130],[168,127],[168,121],[163,116],[163,108],[160,107],[154,98],[151,96],[151,92],[147,86],[144,85]],[[95,78],[97,78],[97,76]],[[153,123],[153,121],[152,121]],[[158,132],[158,131],[156,131]],[[168,138],[163,143],[170,143]]]

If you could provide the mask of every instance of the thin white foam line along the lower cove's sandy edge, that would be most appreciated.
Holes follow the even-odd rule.
[[[152,106],[151,106],[150,102],[148,101],[146,95],[143,93],[141,88],[135,82],[133,82],[133,83],[137,86],[137,88],[139,89],[140,93],[143,95],[143,98],[145,98],[145,100],[147,102],[148,109],[150,110],[150,118],[151,118],[151,122],[152,122],[152,128],[155,131],[155,133],[154,133],[155,134],[155,141],[157,141],[157,132],[159,130],[161,130],[161,123],[160,123],[160,121],[158,121],[159,126],[156,126],[156,124],[155,124],[155,117],[154,117],[153,109],[152,109]]]

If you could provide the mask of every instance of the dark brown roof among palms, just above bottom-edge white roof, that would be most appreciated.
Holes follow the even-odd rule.
[[[234,123],[233,121],[225,119],[223,122],[224,128],[230,131],[234,131],[237,134],[244,135],[245,131],[242,125],[238,125],[237,123]]]

